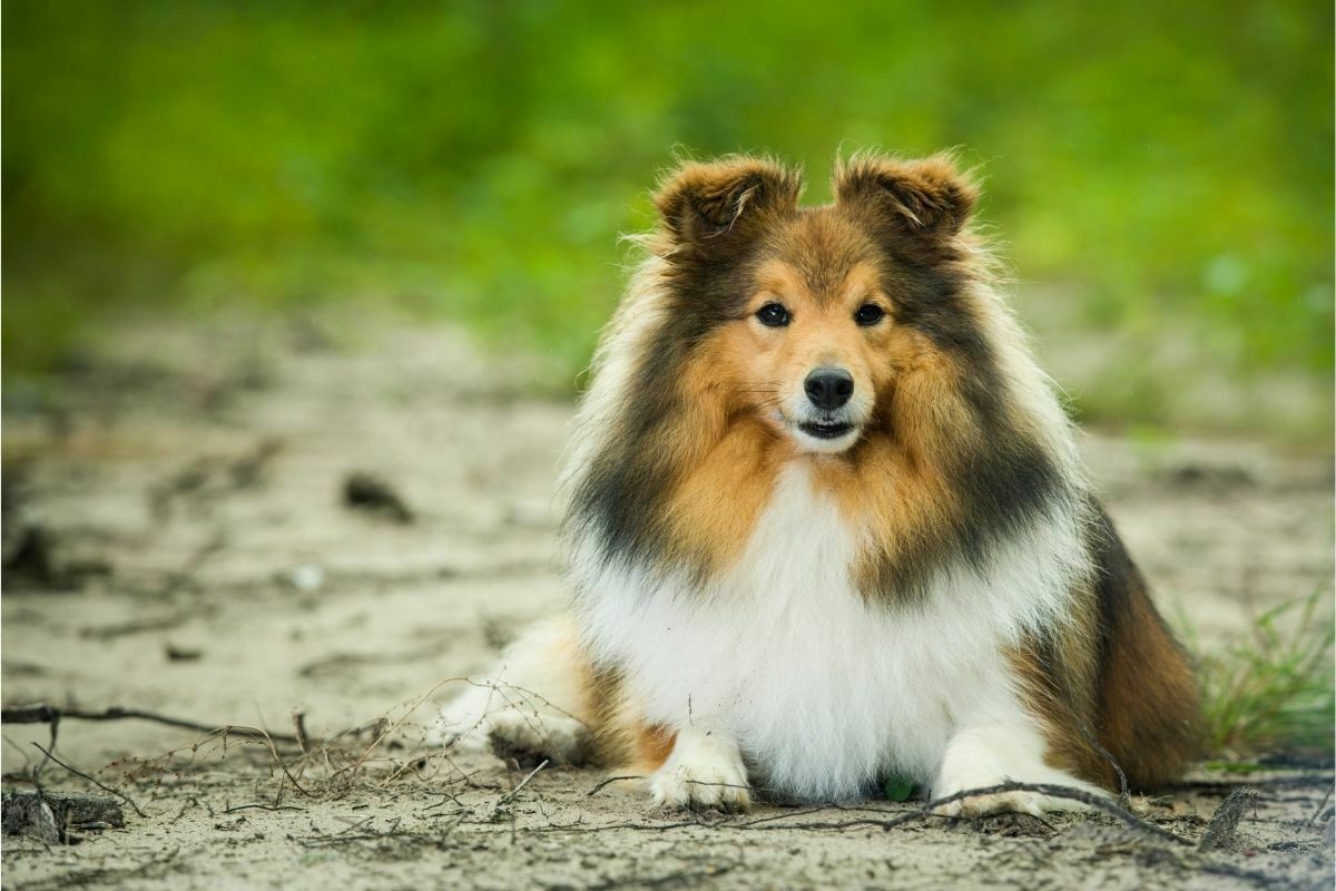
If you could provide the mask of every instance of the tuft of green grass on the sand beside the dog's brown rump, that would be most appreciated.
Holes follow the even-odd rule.
[[[1201,656],[1210,753],[1333,755],[1336,627],[1329,602],[1324,582],[1259,616],[1249,635]]]

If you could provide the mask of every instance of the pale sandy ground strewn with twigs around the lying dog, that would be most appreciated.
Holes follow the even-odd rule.
[[[651,810],[592,769],[418,748],[434,703],[560,608],[552,488],[572,407],[449,331],[142,330],[49,394],[9,391],[3,699],[294,733],[307,751],[152,723],[60,725],[56,755],[130,796],[75,846],[4,840],[5,888],[1331,887],[1329,769],[1201,769],[1108,816],[886,822],[914,803]],[[1161,606],[1204,647],[1332,572],[1328,457],[1089,435]],[[345,502],[350,473],[410,509]],[[32,537],[40,541],[33,545]],[[44,560],[43,560],[44,558]],[[45,565],[43,565],[43,562]],[[389,716],[393,732],[345,728]],[[5,724],[7,791],[44,725]],[[390,745],[393,740],[394,745]],[[98,792],[55,763],[47,789]],[[528,777],[528,781],[524,781]],[[1198,850],[1236,785],[1237,835]]]

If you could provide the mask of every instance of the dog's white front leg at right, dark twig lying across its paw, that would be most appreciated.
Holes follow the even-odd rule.
[[[946,747],[933,797],[942,799],[969,789],[1031,783],[1066,785],[1104,795],[1097,785],[1078,780],[1066,771],[1045,763],[1046,743],[1037,723],[1025,720],[993,721],[966,725]],[[973,795],[937,808],[942,816],[978,816],[1017,812],[1041,815],[1046,811],[1078,811],[1085,806],[1041,792],[994,792]]]

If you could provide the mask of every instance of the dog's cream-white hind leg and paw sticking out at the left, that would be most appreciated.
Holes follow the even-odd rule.
[[[569,618],[548,620],[506,648],[493,671],[441,709],[428,743],[492,749],[521,765],[589,759],[591,669]]]

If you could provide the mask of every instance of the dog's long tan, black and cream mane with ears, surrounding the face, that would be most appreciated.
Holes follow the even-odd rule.
[[[671,508],[675,488],[733,421],[683,383],[711,331],[735,318],[736,301],[719,293],[732,281],[711,266],[737,258],[697,256],[691,238],[700,232],[691,224],[713,226],[703,238],[716,238],[747,215],[766,226],[766,214],[810,212],[798,208],[799,191],[798,174],[749,158],[688,164],[660,187],[661,223],[637,239],[647,256],[595,355],[564,477],[577,586],[616,565],[687,569],[700,584],[724,568],[699,553]],[[912,286],[899,293],[892,321],[926,345],[915,367],[900,369],[879,406],[883,422],[855,446],[860,460],[843,484],[859,489],[864,596],[912,600],[937,573],[985,572],[1007,542],[1027,542],[1046,564],[1037,569],[1086,572],[1079,534],[1054,541],[1047,533],[1090,520],[1071,426],[1001,297],[998,264],[969,223],[973,182],[945,156],[863,154],[836,167],[834,192],[836,203],[823,210],[876,232],[908,270]],[[838,473],[830,480],[840,485]],[[697,497],[727,512],[733,493]],[[745,512],[737,521],[747,522]]]

